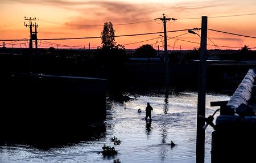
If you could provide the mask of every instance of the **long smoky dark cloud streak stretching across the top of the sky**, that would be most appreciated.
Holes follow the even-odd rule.
[[[3,0],[6,1],[6,0]],[[217,8],[230,5],[227,1],[201,1],[201,2],[166,2],[166,3],[131,3],[121,1],[70,1],[70,0],[9,0],[9,2],[19,2],[34,5],[47,5],[65,8],[80,13],[72,17],[67,23],[69,27],[76,29],[96,28],[90,25],[100,25],[104,22],[113,24],[141,22],[144,20],[154,20],[152,15],[162,16],[172,12],[175,14],[189,14],[202,9]],[[150,27],[148,27],[150,28]]]

